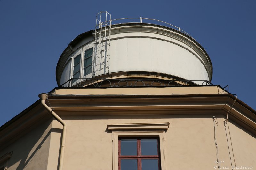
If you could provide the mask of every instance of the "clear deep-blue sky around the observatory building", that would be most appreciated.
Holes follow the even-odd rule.
[[[95,16],[159,19],[192,35],[212,60],[216,85],[256,109],[256,1],[0,0],[0,126],[57,86],[62,51]]]

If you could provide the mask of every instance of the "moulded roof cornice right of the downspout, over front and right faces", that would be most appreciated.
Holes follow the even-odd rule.
[[[82,100],[81,100],[82,99]],[[215,115],[221,114],[256,134],[256,114],[229,94],[51,96],[57,114],[72,115]],[[235,102],[235,103],[234,103]],[[234,105],[233,105],[234,104]],[[231,106],[233,107],[231,108]]]

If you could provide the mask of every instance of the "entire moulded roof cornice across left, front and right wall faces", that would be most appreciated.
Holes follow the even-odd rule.
[[[52,95],[48,100],[59,116],[77,115],[218,115],[256,134],[255,110],[229,94],[195,95]],[[49,103],[47,103],[49,104]],[[234,105],[233,105],[234,104]],[[233,107],[232,107],[233,106]],[[232,107],[232,108],[231,108]],[[39,103],[0,127],[0,146],[11,143],[51,118]],[[2,148],[1,147],[1,148]],[[0,149],[1,149],[0,148]]]

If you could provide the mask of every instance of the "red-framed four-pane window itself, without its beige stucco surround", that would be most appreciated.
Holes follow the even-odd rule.
[[[119,138],[119,170],[160,170],[159,139]]]

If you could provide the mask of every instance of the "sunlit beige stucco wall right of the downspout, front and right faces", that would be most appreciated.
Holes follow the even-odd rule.
[[[93,113],[92,113],[93,114]],[[166,169],[215,169],[216,146],[214,142],[213,115],[102,115],[66,116],[67,138],[64,170],[112,169],[112,134],[107,124],[169,122],[165,132],[164,153]],[[223,115],[215,115],[215,133],[220,166],[235,166],[229,133]],[[226,125],[227,126],[227,125]],[[256,137],[239,125],[229,122],[236,166],[256,168]],[[227,142],[228,136],[228,142]],[[60,137],[51,143],[59,144]],[[228,151],[228,144],[232,160]],[[162,152],[162,151],[161,151]],[[49,168],[48,169],[56,169]]]

